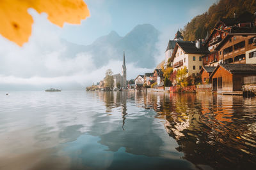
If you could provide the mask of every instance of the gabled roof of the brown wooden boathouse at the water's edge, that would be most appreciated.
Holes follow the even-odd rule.
[[[210,78],[216,73],[218,67],[223,67],[231,74],[256,74],[256,64],[218,64]]]

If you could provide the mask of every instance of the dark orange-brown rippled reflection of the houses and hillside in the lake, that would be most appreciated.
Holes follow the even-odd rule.
[[[217,169],[255,166],[256,137],[249,127],[256,125],[252,111],[244,112],[243,97],[149,93],[147,98],[145,108],[166,121],[184,159]]]

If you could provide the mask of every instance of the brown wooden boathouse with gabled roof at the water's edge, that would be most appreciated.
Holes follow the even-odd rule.
[[[243,78],[256,75],[256,64],[218,64],[210,78],[212,91],[241,92]]]

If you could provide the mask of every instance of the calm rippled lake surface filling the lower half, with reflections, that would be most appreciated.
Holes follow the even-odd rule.
[[[256,99],[0,92],[0,169],[254,169]]]

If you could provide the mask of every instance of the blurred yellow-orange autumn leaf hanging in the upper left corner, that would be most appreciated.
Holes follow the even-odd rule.
[[[28,8],[45,12],[53,24],[81,24],[90,16],[83,0],[0,0],[0,34],[22,46],[31,35],[33,18]]]

